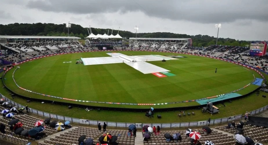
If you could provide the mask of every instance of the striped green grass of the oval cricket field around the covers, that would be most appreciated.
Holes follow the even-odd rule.
[[[170,55],[160,52],[119,52],[126,55]],[[174,55],[174,54],[172,54]],[[206,98],[242,88],[260,76],[238,65],[211,58],[190,56],[167,62],[151,61],[154,65],[171,71],[176,76],[158,78],[124,64],[88,65],[75,64],[81,57],[107,57],[106,52],[65,54],[42,58],[19,65],[14,78],[25,89],[63,98],[122,103],[165,103]],[[69,62],[72,63],[63,63]],[[215,68],[218,69],[215,73]],[[32,98],[59,100],[44,97],[19,89],[12,80],[10,70],[5,83],[14,92]],[[252,74],[253,73],[253,74]],[[237,93],[246,94],[258,86],[249,87]],[[97,104],[73,102],[107,107],[148,108],[118,104]],[[154,108],[184,107],[198,105],[197,102],[158,105]]]

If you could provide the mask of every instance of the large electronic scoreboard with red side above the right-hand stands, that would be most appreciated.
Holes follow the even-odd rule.
[[[266,54],[267,42],[254,41],[250,43],[249,54],[251,56],[264,56]]]

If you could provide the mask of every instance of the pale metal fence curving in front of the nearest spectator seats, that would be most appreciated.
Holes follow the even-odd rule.
[[[18,104],[5,96],[3,96],[0,93],[0,96],[4,98],[6,101],[9,101],[12,105],[17,106],[17,107],[23,107],[25,106]],[[262,111],[265,111],[267,109],[268,105],[265,107],[262,107],[260,109],[251,111],[251,115],[258,114]],[[56,115],[56,114],[51,114],[51,113],[46,113],[43,111],[35,110],[32,108],[29,108],[29,111],[41,116],[45,117],[51,117],[51,118],[56,118],[59,120],[64,120],[64,121],[70,121],[70,122],[76,122],[76,123],[81,123],[81,124],[88,124],[88,125],[98,125],[99,123],[103,124],[103,122],[106,122],[107,126],[114,126],[114,127],[128,127],[130,124],[135,124],[136,127],[142,128],[144,125],[149,125],[149,126],[160,126],[161,128],[172,128],[172,127],[189,127],[189,126],[201,126],[201,125],[206,125],[207,120],[203,121],[196,121],[196,122],[181,122],[181,123],[124,123],[124,122],[107,122],[107,121],[96,121],[96,120],[86,120],[86,119],[79,119],[79,118],[71,118],[71,117],[66,117],[66,116],[61,116],[61,115]],[[230,116],[226,118],[219,118],[219,119],[214,119],[210,121],[210,124],[217,124],[217,123],[223,123],[223,122],[229,122],[232,120],[236,119],[241,119],[243,114],[235,115],[235,116]]]

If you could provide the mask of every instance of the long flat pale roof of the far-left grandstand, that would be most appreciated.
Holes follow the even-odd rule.
[[[81,39],[79,37],[74,36],[9,36],[9,35],[0,35],[0,38],[6,38],[6,39],[26,39],[26,38],[32,38],[32,39]]]

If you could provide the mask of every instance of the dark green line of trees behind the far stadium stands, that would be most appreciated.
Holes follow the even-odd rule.
[[[26,36],[68,36],[68,28],[66,24],[54,24],[54,23],[13,23],[8,25],[0,24],[0,35],[26,35]],[[91,28],[93,34],[108,33],[108,29]],[[109,35],[112,30],[109,29]],[[113,30],[113,35],[116,35],[118,30]],[[135,33],[130,31],[120,30],[119,34],[122,37],[136,37]],[[80,38],[87,37],[87,28],[81,25],[72,24],[69,28],[69,35]],[[195,47],[207,47],[209,45],[216,45],[216,38],[208,35],[187,35],[187,34],[175,34],[169,32],[154,32],[154,33],[137,33],[137,37],[142,38],[192,38],[193,46]],[[218,45],[226,46],[242,46],[246,47],[250,44],[249,41],[239,41],[232,38],[218,38]]]

